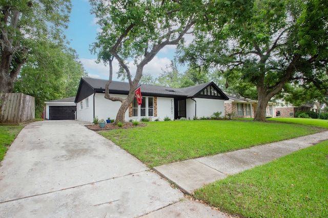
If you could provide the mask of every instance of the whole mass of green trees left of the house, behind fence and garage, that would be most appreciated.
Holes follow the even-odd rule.
[[[70,0],[0,1],[0,92],[35,97],[36,117],[44,102],[76,94],[87,74],[63,34]]]

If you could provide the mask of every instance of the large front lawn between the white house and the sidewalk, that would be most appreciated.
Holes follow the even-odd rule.
[[[321,131],[317,127],[251,120],[150,122],[101,132],[139,160],[157,165],[250,148]]]

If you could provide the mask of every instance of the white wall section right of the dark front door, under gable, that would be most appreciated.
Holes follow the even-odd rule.
[[[214,112],[221,111],[224,116],[224,100],[216,99],[199,99],[194,98],[197,102],[196,116],[198,119],[200,117],[209,117],[212,116]],[[195,102],[191,99],[187,99],[187,119],[193,119],[195,116]]]

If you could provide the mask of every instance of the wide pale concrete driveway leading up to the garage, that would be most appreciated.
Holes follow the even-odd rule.
[[[229,217],[75,120],[28,124],[0,166],[0,217]]]

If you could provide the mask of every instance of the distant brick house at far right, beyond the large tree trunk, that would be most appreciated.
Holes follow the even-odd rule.
[[[320,104],[318,102],[304,104],[300,107],[295,107],[293,105],[285,104],[284,102],[279,102],[276,110],[278,114],[280,114],[279,117],[294,117],[297,111],[315,111],[316,113],[322,113],[325,107],[325,104]]]

